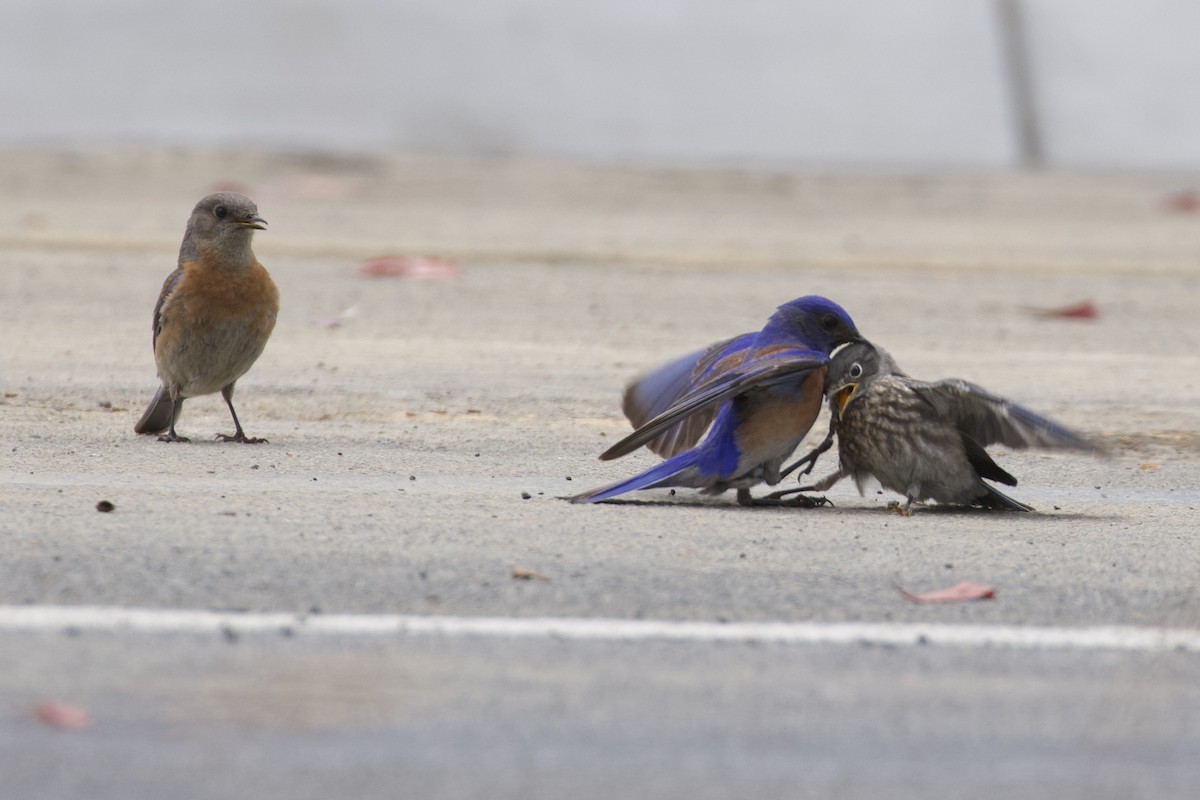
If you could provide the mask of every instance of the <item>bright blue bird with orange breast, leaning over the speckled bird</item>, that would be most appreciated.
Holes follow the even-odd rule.
[[[626,391],[625,410],[637,429],[600,458],[647,445],[667,459],[568,499],[599,503],[634,489],[679,486],[704,494],[732,488],[738,503],[755,503],[750,487],[779,482],[784,459],[821,410],[829,353],[858,338],[841,306],[810,295],[780,306],[757,333],[660,367]]]

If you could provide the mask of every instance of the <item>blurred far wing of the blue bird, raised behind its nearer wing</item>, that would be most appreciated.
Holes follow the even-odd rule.
[[[622,410],[635,428],[642,427],[710,378],[719,371],[718,365],[724,368],[734,359],[744,359],[754,337],[754,333],[743,333],[721,339],[640,375],[625,387]],[[700,441],[715,414],[715,408],[692,414],[647,440],[646,446],[662,458],[680,453]]]

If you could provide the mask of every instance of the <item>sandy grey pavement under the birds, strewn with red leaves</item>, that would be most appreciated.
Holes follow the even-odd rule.
[[[0,176],[0,798],[1194,796],[1194,180],[167,151]],[[270,223],[282,311],[235,398],[269,444],[215,441],[220,396],[191,444],[136,437],[218,188]],[[451,267],[361,271],[384,255]],[[901,518],[848,481],[812,510],[558,499],[655,463],[596,458],[630,378],[804,294],[1110,456],[994,450],[1027,515]],[[995,597],[896,589],[960,581]]]

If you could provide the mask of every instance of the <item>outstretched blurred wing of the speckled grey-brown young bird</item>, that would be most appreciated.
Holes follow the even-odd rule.
[[[1048,447],[1102,452],[1100,447],[1024,405],[955,378],[912,381],[912,389],[983,446]]]

